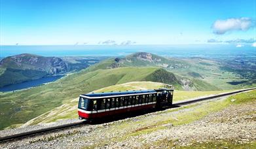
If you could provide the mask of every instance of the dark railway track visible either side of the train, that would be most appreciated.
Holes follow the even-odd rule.
[[[256,90],[256,88],[248,88],[248,89],[244,89],[244,90],[230,91],[228,93],[221,93],[219,95],[212,95],[212,96],[208,96],[208,97],[200,97],[197,99],[191,99],[191,100],[187,100],[187,101],[180,101],[180,102],[174,103],[173,105],[174,106],[189,105],[191,103],[215,99],[217,97],[225,97],[227,95],[232,95],[234,93],[240,93],[240,92],[249,91],[249,90]],[[58,126],[54,126],[54,127],[47,127],[47,128],[43,128],[43,129],[27,131],[27,132],[23,132],[23,133],[14,134],[14,135],[7,135],[4,137],[0,137],[0,143],[15,141],[16,139],[23,139],[23,138],[31,137],[31,136],[35,136],[35,135],[43,135],[45,133],[50,133],[50,132],[59,131],[62,129],[77,127],[79,125],[84,125],[84,124],[87,124],[86,120],[81,120],[80,122],[73,122],[71,124],[58,125]]]

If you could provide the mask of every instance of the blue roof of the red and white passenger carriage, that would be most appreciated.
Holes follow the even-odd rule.
[[[138,90],[138,91],[116,91],[116,92],[105,92],[105,93],[86,93],[81,96],[89,98],[97,97],[111,97],[111,96],[122,96],[122,95],[134,95],[134,94],[146,94],[146,93],[156,93],[155,90]]]

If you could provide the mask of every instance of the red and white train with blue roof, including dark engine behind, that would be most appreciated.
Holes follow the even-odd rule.
[[[97,120],[109,116],[160,109],[172,105],[174,90],[133,90],[86,93],[79,96],[79,119]]]

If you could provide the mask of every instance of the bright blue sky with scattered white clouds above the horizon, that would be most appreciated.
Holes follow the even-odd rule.
[[[0,45],[256,47],[255,0],[0,0]]]

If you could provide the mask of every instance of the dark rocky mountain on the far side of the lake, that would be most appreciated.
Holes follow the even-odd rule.
[[[56,57],[33,54],[9,56],[0,61],[0,87],[27,80],[67,73],[66,63]]]

